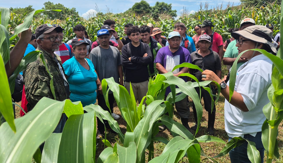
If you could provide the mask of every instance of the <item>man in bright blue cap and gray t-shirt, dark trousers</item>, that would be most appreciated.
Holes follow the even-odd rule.
[[[103,79],[113,77],[116,83],[124,85],[123,83],[123,70],[121,65],[121,58],[119,50],[109,45],[109,32],[107,29],[100,29],[97,32],[97,39],[100,42],[100,45],[92,49],[89,55],[89,59],[94,65],[94,69],[98,76],[97,80],[100,82]],[[120,78],[120,81],[119,81]],[[96,82],[96,83],[100,83]],[[109,111],[104,96],[102,94],[101,84],[97,85],[97,101],[98,105],[105,111]],[[109,91],[108,101],[110,104],[110,110],[114,119],[119,119],[120,116],[113,113],[113,104],[114,104],[113,92]],[[104,121],[106,128],[111,130],[107,121]],[[100,138],[104,134],[104,124],[99,121],[97,118],[97,137]]]

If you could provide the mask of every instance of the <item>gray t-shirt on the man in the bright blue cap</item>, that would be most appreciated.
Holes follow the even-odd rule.
[[[119,83],[118,66],[121,65],[120,52],[114,46],[103,49],[100,46],[93,48],[89,59],[94,65],[99,80],[113,77],[116,83]]]

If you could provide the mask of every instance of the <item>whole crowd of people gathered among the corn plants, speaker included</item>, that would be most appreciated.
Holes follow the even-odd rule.
[[[81,101],[83,107],[98,102],[100,107],[109,111],[117,120],[120,116],[113,112],[115,99],[112,91],[108,92],[110,110],[106,105],[101,87],[103,79],[113,77],[116,83],[123,85],[129,92],[132,85],[135,99],[141,103],[148,91],[149,78],[154,78],[158,73],[172,72],[176,65],[191,63],[203,72],[183,67],[172,73],[177,77],[182,73],[191,73],[198,81],[214,80],[219,83],[226,99],[224,121],[229,141],[233,137],[242,136],[255,142],[263,162],[261,126],[265,116],[262,108],[269,102],[267,90],[271,84],[272,62],[260,52],[245,52],[238,60],[235,89],[230,102],[229,79],[226,76],[222,79],[221,64],[223,60],[223,64],[229,69],[239,53],[254,48],[276,55],[280,46],[280,34],[273,38],[273,24],[256,25],[252,18],[245,18],[240,22],[239,29],[229,29],[232,37],[225,42],[220,34],[213,31],[214,25],[210,20],[195,25],[193,29],[196,34],[192,37],[186,34],[187,27],[182,22],[177,22],[168,36],[162,36],[163,31],[151,23],[140,27],[129,23],[124,26],[125,36],[120,39],[115,31],[115,24],[113,20],[104,21],[104,25],[97,31],[95,41],[88,38],[82,25],[73,28],[76,36],[67,43],[62,42],[65,29],[57,24],[43,24],[37,27],[35,34],[32,34],[31,29],[22,32],[20,40],[10,52],[14,60],[9,66],[6,65],[7,76],[13,73],[21,57],[37,49],[45,57],[54,86],[52,92],[49,72],[40,58],[28,64],[22,74],[24,110],[31,111],[42,97],[59,101]],[[185,82],[191,80],[185,76],[180,78]],[[211,88],[215,95],[215,83],[211,83]],[[215,104],[211,107],[211,96],[204,88],[197,87],[195,90],[203,98],[204,108],[208,112],[207,132],[214,135],[217,108]],[[170,87],[167,87],[164,99],[170,92]],[[175,108],[183,126],[191,132],[195,131],[195,104],[192,106],[195,126],[191,127],[188,125],[188,97],[176,102]],[[21,111],[21,116],[24,114]],[[62,132],[66,119],[66,115],[62,114],[55,133]],[[106,130],[114,132],[107,121],[100,122],[97,119],[97,139],[103,137],[104,125]],[[159,126],[159,131],[165,129],[166,126]],[[229,153],[231,162],[249,162],[246,149],[245,143],[232,149]]]

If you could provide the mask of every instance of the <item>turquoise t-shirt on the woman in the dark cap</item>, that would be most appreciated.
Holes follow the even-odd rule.
[[[67,81],[70,86],[72,102],[81,101],[83,107],[96,103],[97,74],[91,60],[86,59],[89,70],[85,69],[73,56],[63,63]]]

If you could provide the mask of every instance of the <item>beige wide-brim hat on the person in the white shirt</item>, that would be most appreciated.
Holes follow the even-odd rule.
[[[273,45],[272,34],[271,30],[263,25],[252,25],[243,30],[233,32],[231,35],[236,40],[242,36],[251,41],[265,44],[273,52],[273,54],[276,54],[277,50]]]

